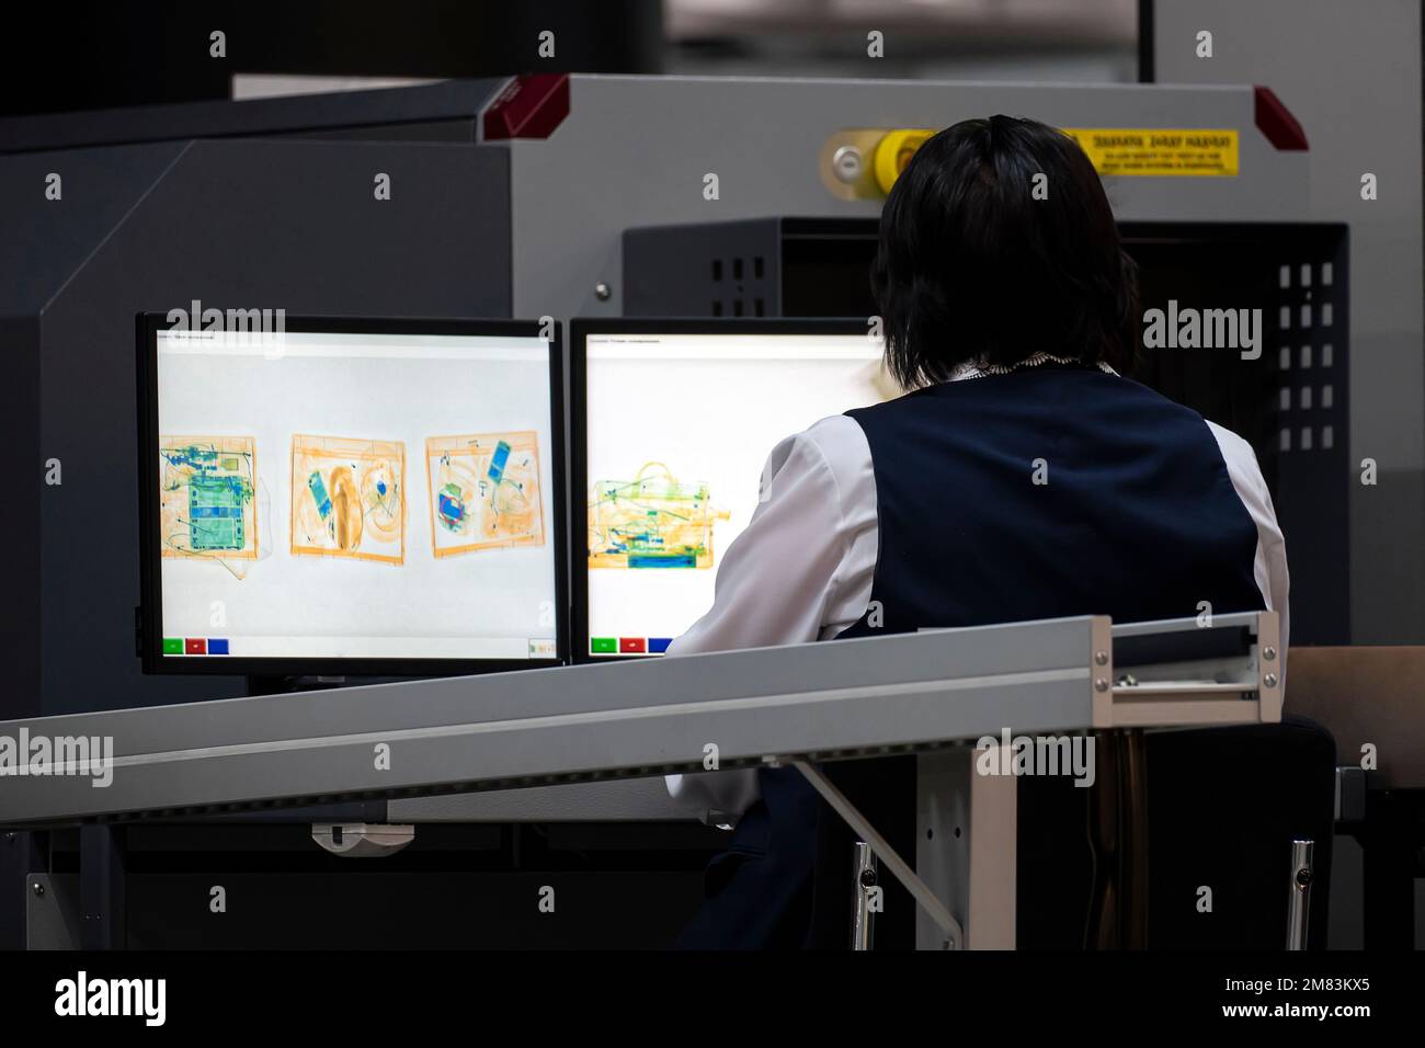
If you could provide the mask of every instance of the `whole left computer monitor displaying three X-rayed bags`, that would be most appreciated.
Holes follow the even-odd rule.
[[[145,672],[567,659],[556,325],[201,317],[138,317]]]

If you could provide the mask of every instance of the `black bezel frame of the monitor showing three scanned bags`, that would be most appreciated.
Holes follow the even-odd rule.
[[[140,629],[138,649],[145,674],[178,676],[370,676],[426,677],[470,676],[506,670],[547,669],[569,664],[569,543],[566,506],[567,459],[564,452],[564,354],[561,328],[549,321],[480,318],[392,318],[288,315],[286,331],[351,335],[484,335],[547,338],[550,381],[550,478],[553,520],[549,523],[554,556],[554,654],[546,659],[322,659],[229,657],[165,659],[162,654],[162,558],[158,553],[158,472],[152,449],[158,446],[158,332],[172,327],[167,314],[137,315],[138,342],[138,505],[140,505]]]

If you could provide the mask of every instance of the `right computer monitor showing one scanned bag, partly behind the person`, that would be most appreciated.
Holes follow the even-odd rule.
[[[778,441],[898,395],[866,321],[571,324],[573,643],[656,657],[712,606]]]

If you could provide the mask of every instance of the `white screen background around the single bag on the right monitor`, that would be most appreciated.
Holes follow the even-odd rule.
[[[589,485],[663,462],[680,481],[705,481],[714,506],[730,510],[714,525],[710,569],[576,565],[589,576],[589,636],[677,637],[697,622],[757,509],[768,453],[822,418],[885,399],[879,359],[866,335],[589,335]]]

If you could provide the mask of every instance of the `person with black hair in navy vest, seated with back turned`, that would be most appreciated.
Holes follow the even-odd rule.
[[[712,607],[670,654],[1204,607],[1280,612],[1285,650],[1285,548],[1257,459],[1127,378],[1134,264],[1072,138],[1005,115],[936,134],[886,200],[871,281],[909,392],[772,449]],[[913,759],[828,771],[913,857]],[[668,790],[737,816],[681,945],[845,945],[852,837],[795,769]]]

